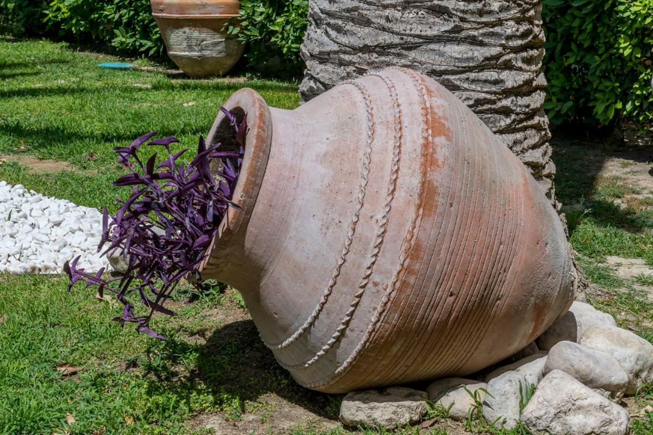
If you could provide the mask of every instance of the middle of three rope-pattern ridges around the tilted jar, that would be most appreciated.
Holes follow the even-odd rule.
[[[363,293],[365,293],[365,289],[370,282],[370,276],[372,276],[372,272],[374,272],[374,265],[379,258],[379,251],[381,250],[381,245],[383,244],[383,239],[385,238],[385,231],[388,227],[390,208],[392,208],[392,200],[394,199],[394,192],[396,191],[397,177],[399,173],[399,157],[401,153],[402,133],[404,129],[402,123],[402,110],[399,104],[399,97],[397,95],[396,87],[394,86],[394,83],[392,83],[392,80],[388,78],[388,76],[382,73],[371,73],[366,74],[366,76],[379,77],[381,80],[383,80],[383,82],[385,82],[385,85],[390,91],[390,97],[392,98],[392,109],[394,111],[394,119],[396,121],[394,123],[394,140],[392,144],[392,165],[390,167],[390,180],[385,195],[383,214],[381,215],[381,219],[379,219],[379,226],[377,227],[374,238],[374,246],[372,246],[372,253],[370,254],[370,263],[366,266],[364,275],[360,280],[360,283],[358,283],[358,291],[351,300],[351,304],[349,304],[349,310],[347,310],[345,313],[342,321],[340,321],[340,325],[338,325],[338,328],[336,329],[336,332],[334,332],[330,340],[328,340],[327,344],[325,344],[315,354],[315,356],[307,362],[294,365],[280,363],[281,366],[283,366],[283,368],[286,370],[304,370],[309,368],[311,365],[315,364],[315,362],[319,361],[321,357],[327,355],[329,349],[331,349],[331,347],[333,347],[334,344],[336,344],[338,340],[342,338],[342,334],[349,326],[349,322],[351,322],[351,319],[353,318],[354,313],[358,308],[358,304],[360,303],[360,299],[362,298]]]

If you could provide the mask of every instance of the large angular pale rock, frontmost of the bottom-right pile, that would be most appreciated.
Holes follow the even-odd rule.
[[[629,415],[565,372],[553,370],[524,408],[522,423],[534,434],[624,435]]]

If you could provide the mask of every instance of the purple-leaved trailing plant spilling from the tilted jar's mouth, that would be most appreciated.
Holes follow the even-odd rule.
[[[172,291],[184,277],[197,278],[199,265],[208,255],[207,249],[216,236],[227,208],[238,205],[232,202],[232,193],[242,165],[247,130],[246,118],[239,124],[236,117],[220,108],[234,126],[239,152],[218,151],[220,144],[207,148],[200,137],[197,155],[184,164],[179,157],[187,150],[170,152],[170,144],[179,142],[168,137],[148,142],[148,146],[163,146],[167,158],[155,167],[156,153],[143,163],[138,148],[150,140],[156,132],[139,137],[125,148],[115,148],[118,163],[132,170],[118,178],[112,185],[131,185],[127,201],[121,204],[115,217],[109,221],[104,207],[103,234],[98,246],[104,255],[114,250],[122,253],[127,270],[119,278],[104,278],[104,268],[97,274],[89,274],[78,268],[80,257],[68,262],[64,270],[70,276],[68,291],[78,281],[86,287],[97,286],[99,297],[110,291],[124,305],[123,314],[114,317],[121,325],[136,323],[138,332],[155,338],[165,337],[150,328],[154,312],[176,315],[163,307]],[[210,172],[210,159],[219,159],[221,169],[217,179]],[[128,297],[138,293],[141,302],[149,308],[146,315],[136,315]]]

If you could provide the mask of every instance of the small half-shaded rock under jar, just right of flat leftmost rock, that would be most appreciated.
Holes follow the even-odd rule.
[[[468,417],[470,409],[475,406],[475,400],[470,393],[473,394],[478,390],[477,398],[481,402],[485,399],[485,392],[479,389],[487,389],[487,384],[472,379],[447,378],[432,382],[428,385],[426,393],[429,400],[449,409],[450,418],[464,420]]]

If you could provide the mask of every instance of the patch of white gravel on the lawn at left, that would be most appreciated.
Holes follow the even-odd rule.
[[[97,209],[0,181],[0,272],[62,273],[78,255],[88,271],[108,267],[97,253],[101,234]]]

